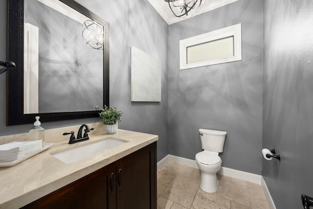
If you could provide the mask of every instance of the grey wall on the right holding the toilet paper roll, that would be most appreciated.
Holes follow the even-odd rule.
[[[265,0],[262,175],[277,209],[313,196],[313,1]]]

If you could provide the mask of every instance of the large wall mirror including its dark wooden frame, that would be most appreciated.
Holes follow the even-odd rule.
[[[73,0],[8,0],[7,125],[109,106],[109,23]]]

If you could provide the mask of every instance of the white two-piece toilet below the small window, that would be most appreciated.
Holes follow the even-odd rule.
[[[226,137],[225,131],[199,129],[202,152],[196,154],[196,163],[201,170],[200,187],[208,193],[216,192],[219,188],[216,173],[220,170],[222,160],[219,156],[223,152]]]

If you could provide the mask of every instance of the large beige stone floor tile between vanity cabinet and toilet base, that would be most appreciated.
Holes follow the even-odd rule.
[[[199,186],[200,182],[197,180],[177,176],[162,193],[162,196],[179,205],[190,208]]]

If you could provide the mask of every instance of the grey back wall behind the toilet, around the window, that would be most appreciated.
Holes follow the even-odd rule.
[[[179,40],[242,23],[242,61],[179,70]],[[262,170],[263,0],[239,0],[169,26],[170,154],[195,159],[200,128],[227,131],[222,166]]]

